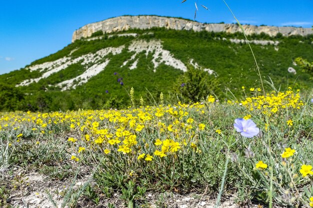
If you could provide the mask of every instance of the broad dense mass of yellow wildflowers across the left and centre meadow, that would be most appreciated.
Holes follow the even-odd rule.
[[[68,127],[69,135],[75,135],[66,139],[71,149],[76,150],[69,156],[74,161],[79,161],[78,155],[94,150],[101,150],[105,155],[121,153],[152,161],[153,157],[174,155],[181,151],[182,145],[200,152],[195,146],[195,135],[205,129],[205,124],[196,122],[188,112],[203,114],[204,110],[203,103],[178,103],[127,110],[2,113],[0,126],[1,130],[6,130],[27,124],[38,136],[52,133],[53,125]],[[159,132],[160,139],[153,138],[151,131]],[[22,136],[22,133],[16,134],[16,138]]]

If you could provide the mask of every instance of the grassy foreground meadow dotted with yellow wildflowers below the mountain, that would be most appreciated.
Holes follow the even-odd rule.
[[[171,192],[313,207],[312,92],[238,88],[234,100],[0,113],[0,206],[171,207],[148,197]]]

